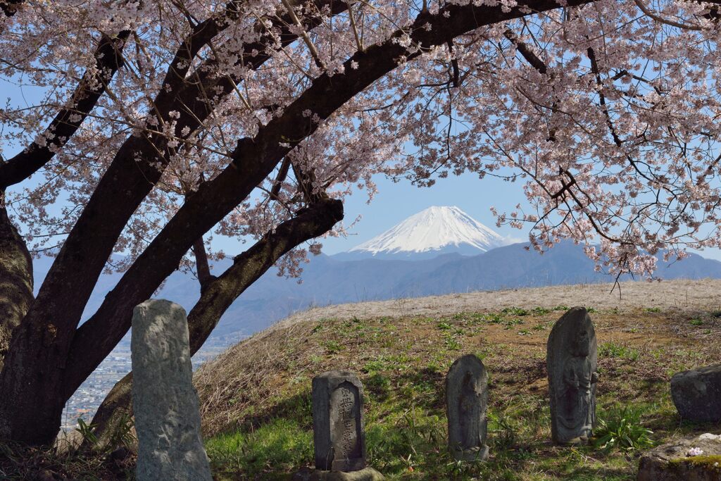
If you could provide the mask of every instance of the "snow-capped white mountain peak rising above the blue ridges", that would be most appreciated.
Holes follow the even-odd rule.
[[[457,207],[429,207],[348,251],[373,257],[477,255],[508,244],[496,232]]]

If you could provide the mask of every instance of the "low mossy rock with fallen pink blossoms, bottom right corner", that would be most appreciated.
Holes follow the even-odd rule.
[[[702,451],[693,456],[691,449]],[[645,453],[639,462],[637,481],[721,480],[721,436],[702,434],[684,438]]]

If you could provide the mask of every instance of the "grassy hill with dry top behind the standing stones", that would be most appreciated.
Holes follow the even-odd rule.
[[[289,479],[312,464],[313,376],[349,369],[366,388],[368,459],[398,480],[632,480],[638,451],[552,446],[546,341],[570,306],[598,336],[598,418],[623,415],[663,443],[719,425],[681,422],[668,381],[721,362],[720,281],[560,286],[329,306],[245,340],[195,376],[220,480]],[[443,381],[475,353],[489,371],[490,459],[446,453]],[[619,409],[629,407],[622,413]]]

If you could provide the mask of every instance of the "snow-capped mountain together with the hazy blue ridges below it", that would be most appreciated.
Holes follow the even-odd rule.
[[[441,209],[441,212],[431,209]],[[301,284],[297,279],[278,277],[275,268],[271,268],[230,306],[213,337],[231,343],[309,306],[614,280],[609,275],[596,273],[593,261],[570,241],[557,244],[543,255],[526,250],[528,243],[491,248],[503,237],[458,208],[431,209],[423,211],[428,216],[422,218],[435,226],[433,229],[412,216],[407,219],[412,222],[404,221],[396,226],[398,229],[386,231],[371,239],[373,242],[358,246],[362,249],[313,257],[304,265]],[[460,234],[442,231],[451,226],[461,226],[464,230]],[[396,238],[386,235],[389,232]],[[415,243],[412,237],[408,241],[409,235],[415,235],[413,232],[420,236]],[[428,236],[423,237],[423,232],[429,233]],[[470,250],[464,250],[466,247]],[[461,255],[462,252],[475,255]],[[48,257],[34,262],[36,293],[51,262]],[[213,274],[224,272],[231,263],[231,259],[214,262]],[[721,278],[721,262],[695,254],[670,265],[659,255],[658,266],[660,278]],[[98,309],[121,275],[100,277],[83,319]],[[176,271],[154,297],[177,302],[190,311],[200,298],[200,286],[191,275]]]

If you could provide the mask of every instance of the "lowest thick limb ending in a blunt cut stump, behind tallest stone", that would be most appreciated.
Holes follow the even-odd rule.
[[[281,256],[298,244],[319,237],[343,218],[340,200],[324,199],[268,232],[249,250],[234,258],[233,265],[203,287],[198,303],[187,316],[190,354],[205,343],[221,316],[252,283],[257,281]],[[133,373],[126,374],[112,387],[95,413],[92,424],[101,444],[107,443],[124,414],[132,414]]]

